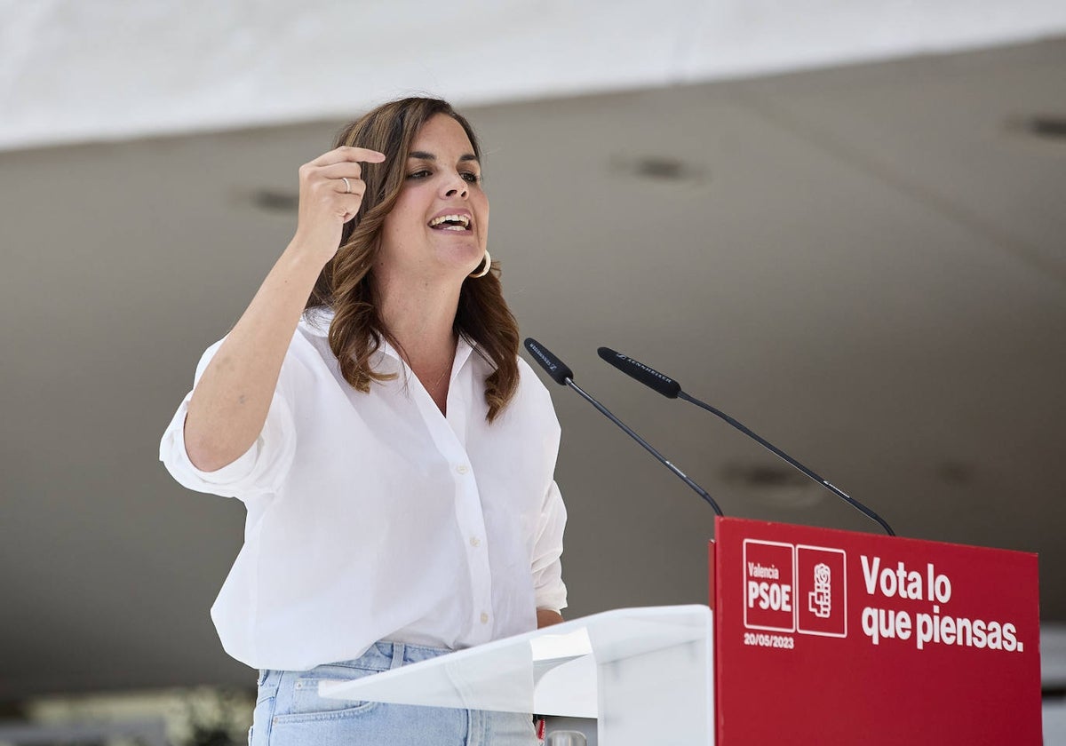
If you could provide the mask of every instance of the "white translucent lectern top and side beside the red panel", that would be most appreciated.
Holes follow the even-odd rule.
[[[348,682],[320,694],[597,718],[600,746],[714,743],[711,610],[619,609]]]

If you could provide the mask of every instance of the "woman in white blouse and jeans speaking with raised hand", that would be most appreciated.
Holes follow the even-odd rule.
[[[260,669],[253,746],[535,743],[528,715],[317,694],[562,621],[559,424],[487,231],[447,102],[352,123],[300,169],[292,242],[163,436],[178,482],[247,507],[211,615]]]

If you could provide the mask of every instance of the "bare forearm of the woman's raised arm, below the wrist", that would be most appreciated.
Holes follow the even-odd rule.
[[[259,437],[322,267],[313,257],[295,241],[289,244],[204,371],[184,427],[185,450],[197,469],[221,469]]]

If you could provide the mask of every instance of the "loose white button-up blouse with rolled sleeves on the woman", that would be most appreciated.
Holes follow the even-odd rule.
[[[191,392],[160,443],[179,483],[247,507],[244,547],[211,607],[226,651],[253,668],[304,670],[379,639],[470,647],[564,609],[559,421],[529,366],[518,360],[518,390],[489,424],[492,368],[461,339],[446,418],[385,343],[371,364],[397,379],[369,394],[349,386],[330,319],[301,320],[243,456],[213,472],[192,465]]]

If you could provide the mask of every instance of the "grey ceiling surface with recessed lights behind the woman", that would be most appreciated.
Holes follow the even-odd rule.
[[[1040,553],[1066,621],[1066,40],[467,112],[526,335],[731,515],[876,526],[596,357],[679,378],[905,536]],[[0,153],[0,699],[249,684],[207,610],[243,508],[159,436],[237,319],[339,123]],[[691,178],[637,178],[642,157]],[[568,615],[706,599],[712,514],[552,388]]]

